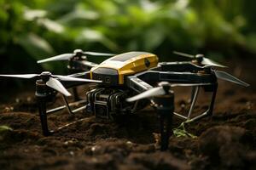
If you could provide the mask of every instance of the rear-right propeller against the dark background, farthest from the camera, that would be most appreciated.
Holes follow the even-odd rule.
[[[225,65],[221,65],[217,63],[216,61],[213,61],[212,59],[208,59],[204,56],[204,54],[196,54],[196,55],[191,55],[191,54],[184,54],[181,52],[173,51],[173,54],[181,55],[184,57],[188,57],[190,59],[196,59],[197,62],[201,65],[211,65],[211,66],[217,66],[217,67],[227,67]]]

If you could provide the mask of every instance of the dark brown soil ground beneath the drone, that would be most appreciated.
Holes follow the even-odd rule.
[[[243,88],[219,81],[212,117],[186,126],[196,138],[170,138],[169,149],[157,144],[159,122],[150,107],[118,122],[61,111],[49,116],[49,126],[84,121],[44,137],[31,92],[15,94],[0,105],[0,169],[256,169],[255,59],[239,59],[226,71],[251,84]],[[188,90],[176,91],[177,111],[187,106]],[[209,100],[202,93],[195,108]],[[178,127],[181,120],[173,120]]]

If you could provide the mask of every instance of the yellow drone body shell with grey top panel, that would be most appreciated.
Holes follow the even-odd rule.
[[[90,78],[108,85],[124,84],[125,76],[146,71],[158,65],[158,57],[147,52],[129,52],[115,55],[91,68]]]

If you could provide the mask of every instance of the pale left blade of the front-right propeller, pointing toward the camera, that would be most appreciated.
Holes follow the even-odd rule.
[[[164,90],[163,87],[150,88],[149,90],[143,92],[142,94],[137,94],[136,96],[126,99],[126,101],[133,102],[138,99],[145,99],[145,98],[158,96],[158,95],[164,95],[164,94],[166,94],[166,91]]]

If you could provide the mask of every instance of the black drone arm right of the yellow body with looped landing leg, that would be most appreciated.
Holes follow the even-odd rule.
[[[188,116],[173,112],[174,115],[185,119],[187,122],[194,122],[204,116],[211,116],[214,101],[217,94],[218,82],[217,77],[211,70],[211,67],[201,67],[189,62],[170,62],[160,63],[160,65],[151,71],[144,71],[131,77],[126,77],[128,87],[142,93],[150,88],[152,82],[171,82],[171,83],[188,83],[188,84],[207,84],[192,87],[191,105]],[[191,117],[200,88],[207,92],[212,92],[212,100],[207,109],[199,116]],[[174,104],[173,104],[174,105]]]

